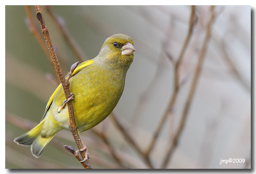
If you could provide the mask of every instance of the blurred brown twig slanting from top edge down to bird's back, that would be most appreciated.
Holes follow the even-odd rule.
[[[76,43],[75,39],[69,34],[65,23],[60,21],[60,17],[58,17],[49,6],[46,6],[46,10],[49,13],[50,17],[53,19],[57,27],[59,28],[60,32],[62,33],[63,37],[71,47],[72,51],[75,53],[79,62],[83,62],[87,60],[86,56],[84,55],[82,49]]]

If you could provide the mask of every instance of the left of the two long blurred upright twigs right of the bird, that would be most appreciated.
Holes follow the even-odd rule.
[[[192,31],[193,31],[193,26],[195,24],[195,6],[191,6],[191,14],[190,14],[190,20],[189,20],[189,27],[188,27],[188,34],[186,36],[186,39],[184,41],[184,44],[183,44],[183,47],[180,51],[180,55],[177,59],[177,61],[175,62],[175,69],[174,69],[174,89],[173,89],[173,94],[172,94],[172,97],[171,97],[171,100],[167,106],[167,109],[165,110],[165,113],[157,127],[157,130],[155,131],[154,135],[153,135],[153,138],[149,144],[149,147],[148,149],[146,150],[145,154],[147,156],[149,156],[150,152],[152,151],[153,147],[155,146],[156,144],[156,141],[157,141],[157,138],[164,126],[164,123],[165,123],[165,120],[168,118],[168,115],[169,115],[169,112],[173,109],[173,106],[174,106],[174,103],[176,101],[176,96],[178,94],[178,91],[179,91],[179,88],[180,88],[180,84],[179,84],[179,67],[180,67],[180,62],[182,61],[182,58],[183,58],[183,55],[186,51],[186,48],[188,46],[188,43],[189,43],[189,40],[191,38],[191,35],[192,35]],[[167,54],[168,55],[168,54]]]

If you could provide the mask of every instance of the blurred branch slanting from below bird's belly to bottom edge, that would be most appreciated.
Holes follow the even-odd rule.
[[[110,114],[110,117],[112,118],[114,124],[117,126],[117,128],[120,130],[120,132],[125,137],[125,140],[133,146],[133,148],[139,153],[141,157],[143,157],[145,163],[150,167],[153,168],[153,165],[151,164],[151,161],[149,157],[143,153],[142,149],[138,146],[138,144],[134,141],[134,139],[130,136],[130,134],[125,130],[125,128],[122,126],[121,123],[119,123],[118,119],[115,117],[113,112]]]

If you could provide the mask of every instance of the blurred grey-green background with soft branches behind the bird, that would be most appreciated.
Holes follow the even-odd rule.
[[[250,6],[213,12],[211,6],[42,6],[42,12],[64,74],[98,55],[113,34],[130,36],[137,49],[113,114],[80,134],[92,168],[251,167]],[[6,6],[6,168],[82,168],[63,147],[77,149],[69,130],[58,132],[38,159],[13,142],[39,123],[59,83],[40,27],[35,6]],[[229,158],[245,160],[220,164]]]

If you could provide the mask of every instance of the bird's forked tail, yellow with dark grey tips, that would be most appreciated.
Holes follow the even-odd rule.
[[[51,139],[54,137],[54,135],[43,138],[41,137],[41,130],[43,129],[45,120],[42,120],[41,123],[39,123],[36,127],[29,130],[25,134],[17,137],[14,139],[14,142],[16,142],[19,145],[22,146],[30,146],[31,145],[31,153],[34,157],[38,158],[40,157],[43,149],[45,146],[51,141]]]

